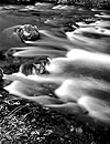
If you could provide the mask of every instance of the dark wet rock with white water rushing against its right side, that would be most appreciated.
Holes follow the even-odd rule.
[[[51,59],[48,56],[30,60],[21,65],[20,72],[25,75],[45,74],[47,73],[45,66],[50,64],[50,61]]]

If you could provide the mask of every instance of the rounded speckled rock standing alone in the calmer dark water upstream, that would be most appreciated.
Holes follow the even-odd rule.
[[[23,42],[25,41],[36,41],[40,38],[40,33],[36,25],[24,24],[15,29]]]

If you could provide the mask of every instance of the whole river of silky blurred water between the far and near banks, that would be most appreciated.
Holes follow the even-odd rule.
[[[21,41],[15,29],[37,25],[40,39]],[[25,59],[3,74],[10,94],[63,113],[110,123],[110,11],[74,6],[0,7],[0,49]]]

